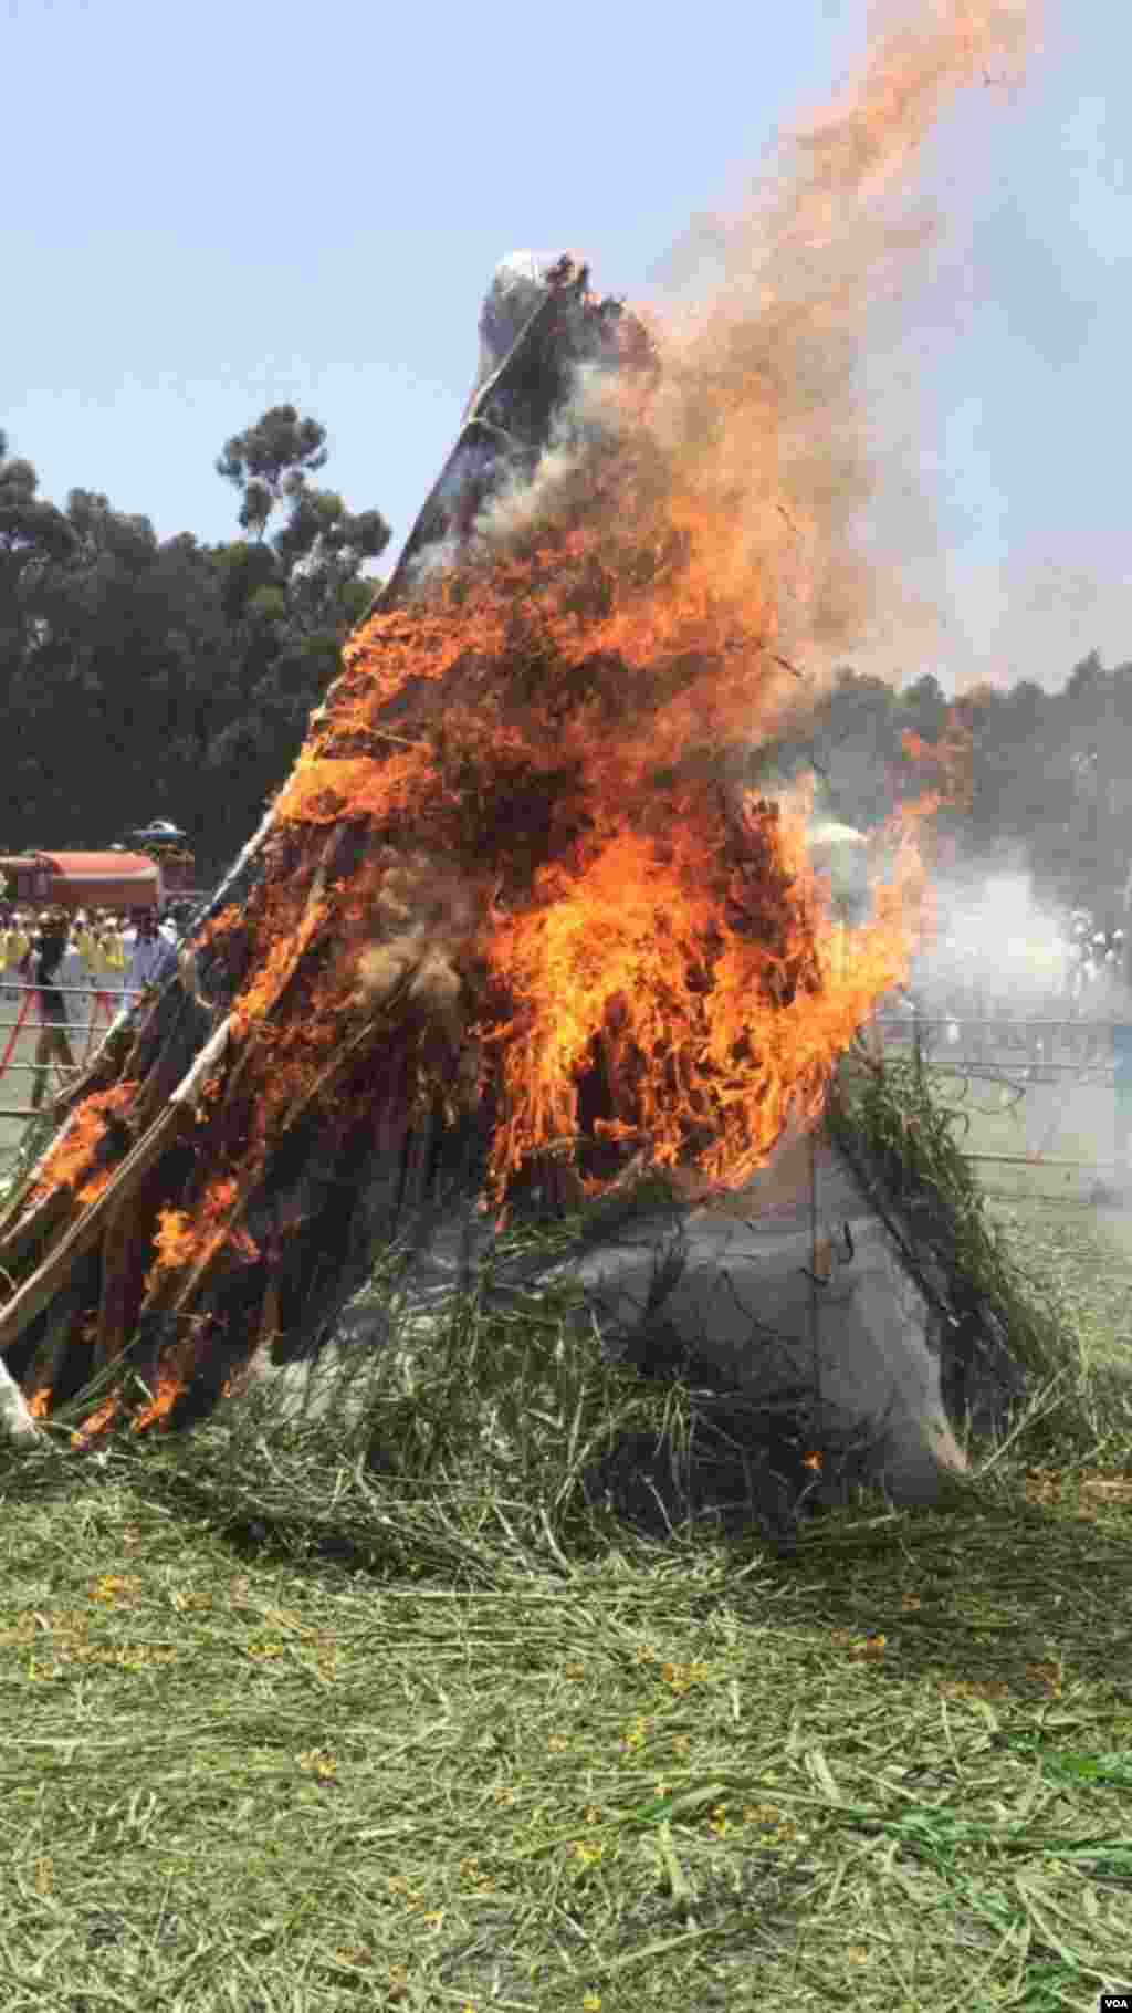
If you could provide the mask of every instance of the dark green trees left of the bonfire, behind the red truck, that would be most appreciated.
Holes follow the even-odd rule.
[[[288,775],[390,541],[314,477],[326,429],[271,407],[217,473],[239,537],[159,539],[149,517],[40,495],[0,431],[0,847],[99,847],[169,817],[217,876]]]

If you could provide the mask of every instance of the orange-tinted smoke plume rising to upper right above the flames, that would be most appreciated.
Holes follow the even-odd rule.
[[[664,364],[643,417],[657,523],[688,541],[692,584],[814,696],[846,652],[881,648],[907,674],[941,634],[905,564],[933,537],[907,395],[875,364],[943,229],[917,197],[919,151],[959,91],[1019,70],[1031,24],[1013,0],[877,8],[859,76],[786,135],[740,215],[714,219],[700,302],[645,312]],[[569,509],[613,425],[609,380],[579,372],[535,483],[479,533],[495,544]]]

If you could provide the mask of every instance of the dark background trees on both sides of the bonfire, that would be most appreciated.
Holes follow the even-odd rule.
[[[215,461],[239,535],[159,539],[90,489],[40,495],[0,431],[0,676],[8,743],[0,849],[107,845],[169,817],[201,876],[227,866],[302,747],[390,541],[316,477],[326,429],[271,407]],[[871,829],[937,789],[937,864],[1029,866],[1037,892],[1112,914],[1132,860],[1132,664],[1092,652],[1064,688],[1031,678],[949,701],[842,668],[748,781],[820,777],[828,811]]]

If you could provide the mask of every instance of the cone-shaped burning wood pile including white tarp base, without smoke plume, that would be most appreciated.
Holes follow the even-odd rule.
[[[859,562],[770,471],[736,507],[726,384],[708,425],[575,258],[505,264],[483,332],[296,769],[8,1200],[10,1423],[119,1365],[78,1447],[187,1425],[318,1357],[390,1244],[436,1304],[501,1226],[577,1216],[611,1349],[766,1417],[802,1391],[822,1488],[931,1498],[973,1365],[1011,1389],[1001,1321],[909,1262],[824,1113],[907,976],[933,805],[865,847],[744,787]]]

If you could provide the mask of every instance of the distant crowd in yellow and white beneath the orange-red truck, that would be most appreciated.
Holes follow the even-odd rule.
[[[74,1069],[70,1037],[86,1033],[99,996],[117,1011],[161,986],[177,966],[189,904],[155,910],[78,910],[0,904],[0,964],[10,1004],[34,998],[38,1043],[32,1109],[52,1063]]]

